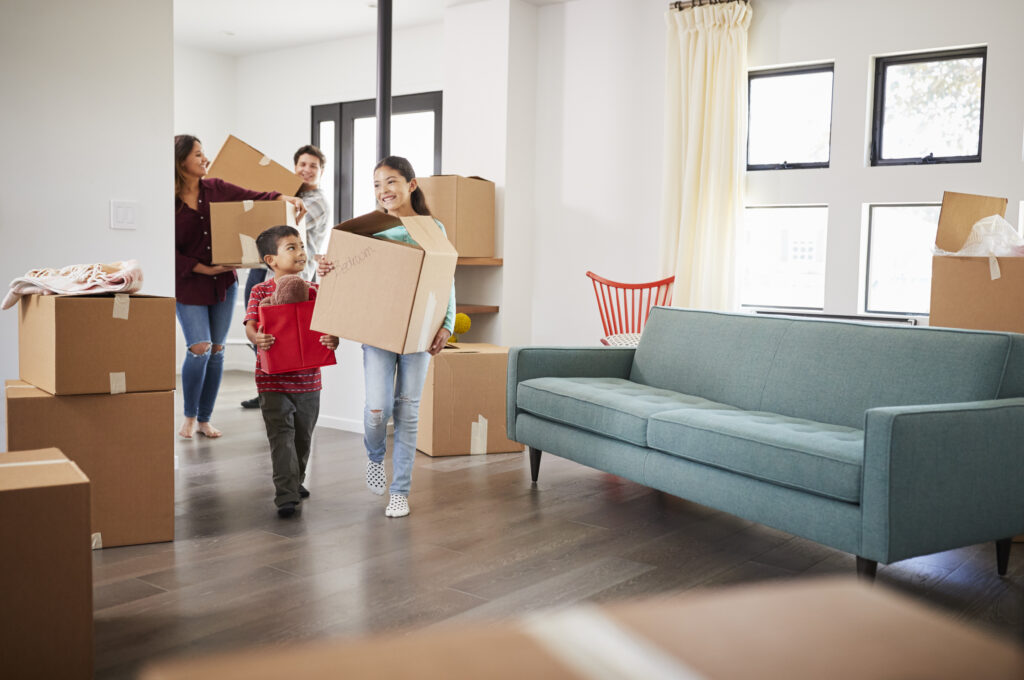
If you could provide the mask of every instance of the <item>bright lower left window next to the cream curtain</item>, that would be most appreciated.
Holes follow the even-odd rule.
[[[740,304],[822,309],[827,222],[825,206],[746,208],[739,240]]]

